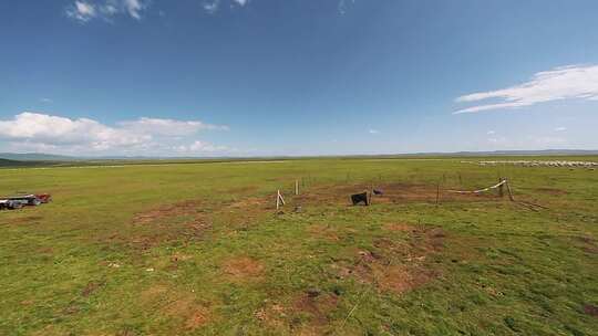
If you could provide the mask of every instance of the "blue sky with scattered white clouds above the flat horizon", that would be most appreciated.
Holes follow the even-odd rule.
[[[0,2],[0,151],[598,149],[598,2]]]

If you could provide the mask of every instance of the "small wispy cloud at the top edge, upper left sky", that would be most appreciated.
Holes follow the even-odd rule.
[[[111,21],[116,15],[128,15],[135,20],[142,19],[142,13],[148,7],[148,0],[76,0],[65,9],[66,17],[81,23],[96,18]]]

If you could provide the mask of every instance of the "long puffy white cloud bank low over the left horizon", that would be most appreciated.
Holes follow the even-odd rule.
[[[107,126],[89,118],[66,118],[42,113],[23,112],[13,119],[0,120],[0,141],[18,144],[20,148],[39,148],[52,153],[111,154],[153,151],[172,155],[168,148],[182,141],[193,141],[185,151],[226,151],[226,147],[199,141],[200,130],[228,129],[226,126],[199,120],[174,120],[142,117]]]

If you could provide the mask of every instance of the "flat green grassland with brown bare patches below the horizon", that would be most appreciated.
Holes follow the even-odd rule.
[[[0,334],[598,335],[598,171],[466,160],[1,169]]]

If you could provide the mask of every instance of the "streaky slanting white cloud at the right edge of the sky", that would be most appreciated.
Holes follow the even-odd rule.
[[[536,73],[530,81],[507,88],[478,92],[456,98],[458,103],[497,98],[502,102],[482,104],[454,112],[476,113],[488,109],[516,108],[559,99],[598,99],[598,65],[570,65]]]

